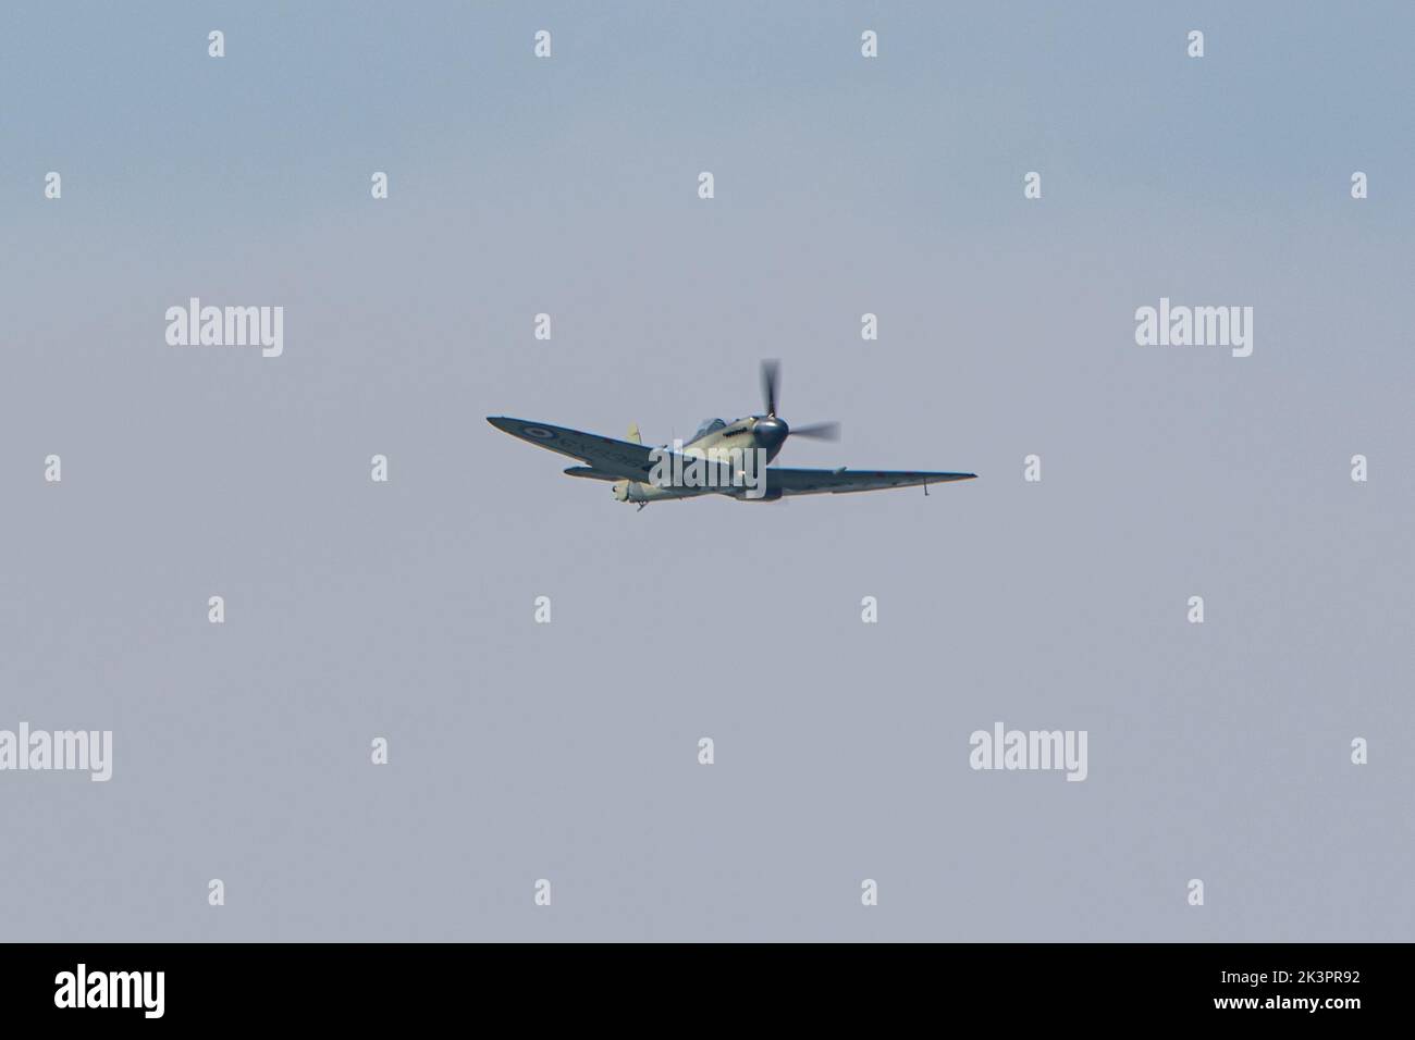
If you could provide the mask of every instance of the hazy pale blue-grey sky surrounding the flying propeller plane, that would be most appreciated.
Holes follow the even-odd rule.
[[[1409,940],[1412,31],[7,4],[0,729],[115,763],[0,774],[4,935]],[[1138,347],[1162,296],[1252,357]],[[782,464],[981,478],[635,514],[484,420],[666,441],[763,357],[845,424]],[[996,720],[1087,781],[969,770]]]

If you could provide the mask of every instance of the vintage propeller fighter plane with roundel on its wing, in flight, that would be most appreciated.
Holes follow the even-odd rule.
[[[775,361],[761,362],[761,393],[766,413],[746,416],[733,422],[709,419],[692,440],[682,446],[678,458],[698,453],[727,453],[734,449],[757,449],[767,463],[780,454],[787,437],[811,437],[836,440],[839,423],[814,423],[791,429],[785,419],[777,415],[777,391],[781,369]],[[638,424],[628,427],[628,440],[601,437],[597,433],[583,433],[565,426],[552,426],[528,419],[509,416],[487,416],[487,422],[512,437],[529,441],[536,447],[558,451],[576,458],[583,466],[572,466],[565,473],[570,477],[601,480],[613,484],[614,499],[633,502],[642,509],[649,502],[698,498],[700,495],[726,495],[739,501],[775,502],[787,495],[849,494],[856,491],[883,491],[886,488],[924,487],[945,484],[955,480],[974,480],[975,473],[920,473],[914,470],[791,470],[766,467],[766,487],[746,487],[741,481],[719,483],[715,487],[685,487],[654,480],[655,467],[665,460],[665,449],[649,449],[642,443]],[[672,453],[668,454],[672,458]],[[659,474],[662,470],[659,470]],[[739,475],[741,475],[739,473]]]

